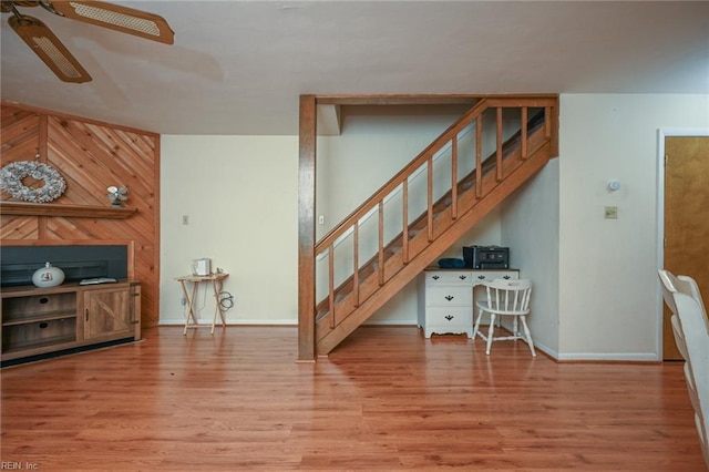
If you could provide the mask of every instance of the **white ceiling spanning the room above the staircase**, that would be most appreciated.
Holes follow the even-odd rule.
[[[54,17],[60,82],[7,24],[1,95],[161,134],[297,134],[315,94],[709,93],[707,1],[116,1],[166,45]]]

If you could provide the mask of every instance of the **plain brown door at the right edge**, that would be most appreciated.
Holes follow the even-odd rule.
[[[665,261],[697,280],[709,306],[709,136],[665,138]],[[662,315],[662,359],[680,360],[669,312]]]

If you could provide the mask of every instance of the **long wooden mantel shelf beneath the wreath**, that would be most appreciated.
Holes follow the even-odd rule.
[[[51,203],[0,202],[0,213],[3,215],[124,219],[135,214],[135,208],[99,205],[56,205]]]

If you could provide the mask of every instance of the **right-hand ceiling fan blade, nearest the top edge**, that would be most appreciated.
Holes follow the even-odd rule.
[[[175,33],[163,17],[133,8],[102,1],[47,2],[59,14],[97,27],[150,39],[165,44],[174,42]]]

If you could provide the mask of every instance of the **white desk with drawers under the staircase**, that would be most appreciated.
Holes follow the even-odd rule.
[[[473,287],[496,278],[516,280],[520,270],[425,269],[419,278],[419,327],[423,336],[464,332],[472,338]]]

